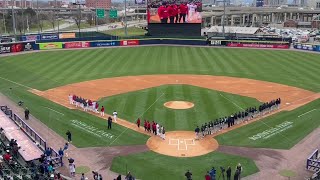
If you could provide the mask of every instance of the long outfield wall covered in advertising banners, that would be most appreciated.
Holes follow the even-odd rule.
[[[60,35],[62,36],[62,35]],[[94,40],[94,41],[72,41],[73,34],[65,34],[64,42],[41,42],[24,41],[17,43],[0,44],[0,54],[16,53],[32,50],[50,49],[74,49],[74,48],[95,48],[112,46],[139,46],[139,45],[187,45],[187,46],[224,46],[237,48],[270,48],[289,49],[290,43],[283,41],[246,41],[246,40],[204,40],[204,39],[179,39],[179,38],[148,38],[148,39],[128,39],[128,40]],[[54,40],[56,36],[28,36],[26,39],[47,38]],[[62,38],[62,37],[59,37]],[[294,48],[308,51],[320,52],[320,45],[295,44]]]

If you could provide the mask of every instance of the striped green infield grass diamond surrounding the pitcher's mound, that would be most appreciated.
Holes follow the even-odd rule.
[[[168,101],[189,101],[193,108],[173,110],[163,106]],[[213,91],[190,85],[166,85],[126,94],[115,95],[100,101],[106,111],[117,110],[119,117],[136,122],[137,118],[155,120],[167,130],[191,130],[197,125],[229,116],[261,103],[254,98]],[[147,110],[147,111],[146,111]]]

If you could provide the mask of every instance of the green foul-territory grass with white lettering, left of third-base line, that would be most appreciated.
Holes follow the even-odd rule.
[[[12,87],[12,90],[9,90]],[[117,145],[135,145],[145,144],[148,136],[137,133],[133,130],[126,130],[122,126],[113,124],[112,130],[107,130],[107,121],[92,116],[80,110],[70,110],[58,104],[55,104],[42,97],[34,95],[19,86],[14,86],[0,79],[0,90],[14,102],[24,101],[24,105],[30,109],[30,113],[45,123],[50,129],[53,129],[60,136],[66,139],[66,131],[72,133],[72,144],[77,147],[97,147],[97,146],[117,146]],[[48,108],[54,109],[64,115],[55,113]],[[114,135],[112,139],[100,138],[96,135],[83,131],[71,125],[71,120],[79,120],[87,125],[93,126],[98,130]],[[125,131],[119,138],[117,138]],[[46,137],[44,137],[46,138]],[[117,139],[116,139],[117,138]],[[111,144],[112,143],[112,144]]]

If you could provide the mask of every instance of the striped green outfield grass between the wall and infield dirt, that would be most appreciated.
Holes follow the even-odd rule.
[[[271,81],[319,92],[320,76],[316,73],[319,69],[319,54],[200,47],[52,51],[0,60],[1,77],[39,90],[115,76],[211,74]]]

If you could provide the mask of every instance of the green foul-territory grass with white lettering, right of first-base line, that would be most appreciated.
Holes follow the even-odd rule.
[[[290,149],[314,129],[319,127],[319,107],[320,99],[293,111],[281,112],[215,138],[219,144],[222,145]],[[254,135],[272,129],[284,122],[291,122],[292,127],[266,139],[255,139],[257,136]],[[279,132],[280,129],[285,128],[279,128],[276,132]],[[254,139],[249,139],[249,137],[253,137]],[[265,137],[267,137],[267,135]]]

